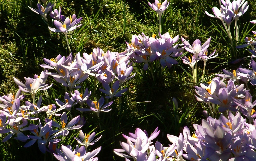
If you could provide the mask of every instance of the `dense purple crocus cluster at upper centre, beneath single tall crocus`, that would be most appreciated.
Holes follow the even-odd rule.
[[[126,52],[130,55],[130,58],[134,59],[137,63],[143,63],[143,70],[147,70],[149,62],[156,60],[160,61],[162,67],[170,68],[173,64],[178,62],[171,57],[179,57],[182,55],[183,48],[178,48],[179,44],[175,43],[178,41],[179,36],[170,37],[169,33],[161,35],[160,38],[155,38],[142,35],[133,35],[131,43],[127,43]]]

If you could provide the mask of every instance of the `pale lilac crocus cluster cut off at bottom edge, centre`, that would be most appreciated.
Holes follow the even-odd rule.
[[[174,156],[176,156],[176,144],[173,144],[169,147],[164,147],[160,142],[157,141],[155,146],[152,145],[151,141],[155,139],[160,133],[160,131],[157,130],[158,127],[149,137],[146,131],[142,131],[139,128],[135,130],[135,134],[129,133],[129,136],[123,135],[123,137],[127,139],[127,143],[120,142],[120,145],[123,149],[114,149],[114,153],[118,156],[131,158],[137,161],[161,161],[166,159],[174,159]]]

